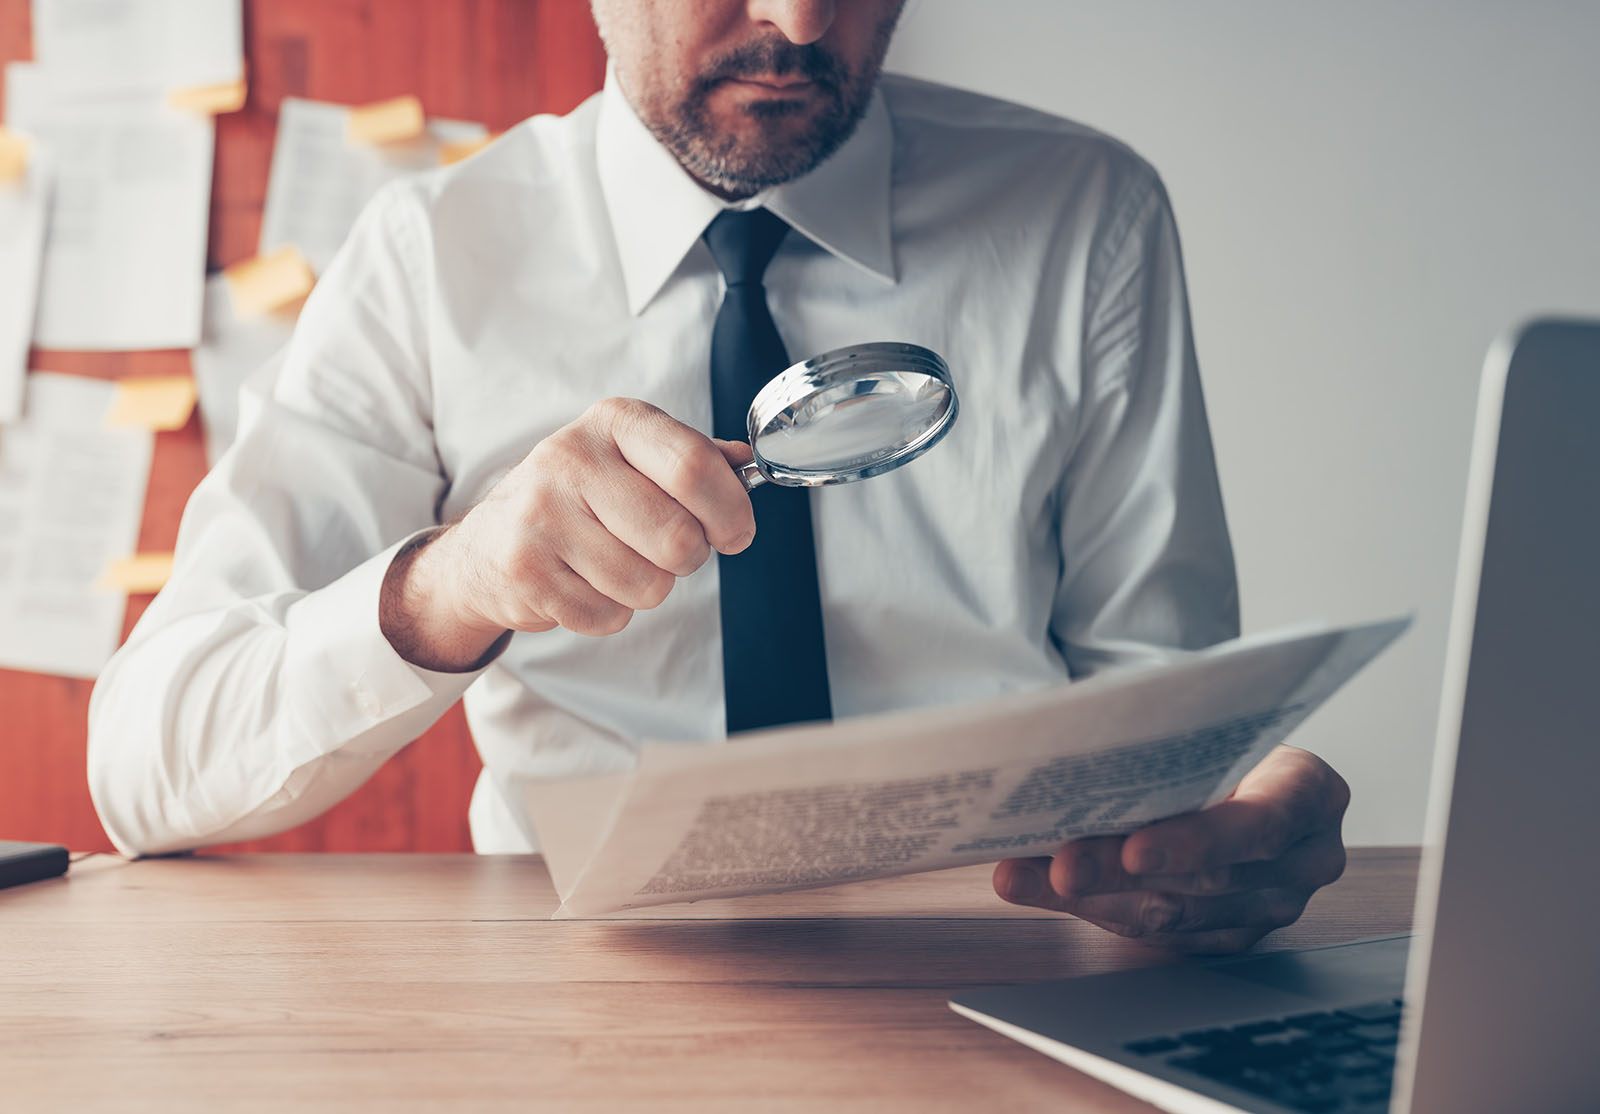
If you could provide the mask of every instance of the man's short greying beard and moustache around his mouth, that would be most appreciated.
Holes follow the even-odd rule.
[[[677,106],[650,114],[656,118],[645,118],[645,125],[694,178],[730,194],[757,194],[792,181],[821,165],[856,130],[872,99],[893,26],[888,21],[882,27],[880,48],[854,75],[834,54],[811,43],[776,40],[739,46],[698,75]],[[726,78],[765,75],[802,75],[814,85],[811,96],[819,98],[822,107],[810,126],[786,141],[771,134],[741,139],[720,131],[707,112],[712,90]],[[741,110],[760,122],[798,115],[810,107],[800,101],[755,101]]]

